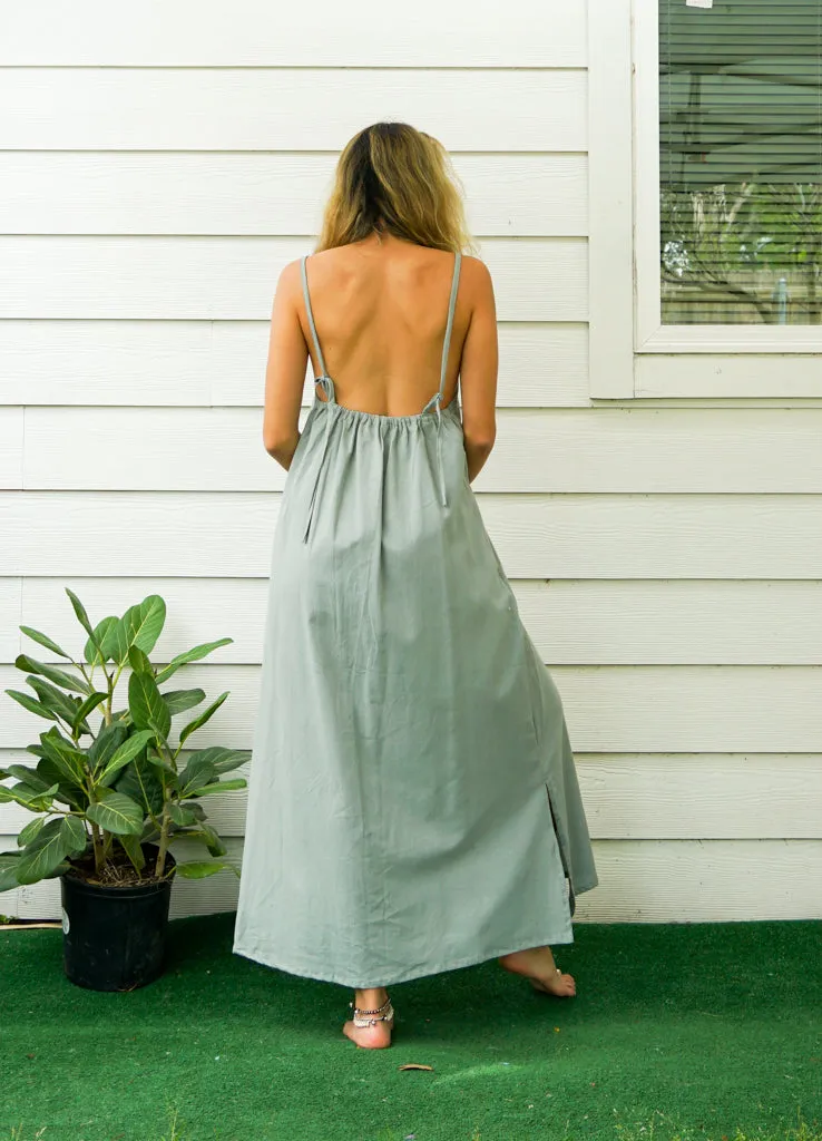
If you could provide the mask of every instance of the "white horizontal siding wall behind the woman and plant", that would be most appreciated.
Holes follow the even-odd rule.
[[[17,6],[2,688],[41,655],[21,623],[78,646],[66,585],[95,621],[160,592],[164,658],[234,638],[188,671],[231,690],[198,745],[251,745],[284,476],[260,437],[274,284],[311,248],[343,143],[405,119],[451,151],[496,282],[499,438],[475,487],[565,705],[601,873],[577,917],[820,917],[822,410],[595,405],[584,5],[414,10],[394,29],[375,0],[283,25],[261,0]],[[46,726],[0,697],[0,764],[31,759]],[[210,808],[242,851],[242,795]],[[27,819],[0,806],[0,850]],[[181,882],[172,914],[236,890]],[[54,916],[58,885],[0,911]]]

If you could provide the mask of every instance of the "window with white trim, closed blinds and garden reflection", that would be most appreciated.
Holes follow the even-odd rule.
[[[822,0],[589,2],[592,395],[822,396]]]

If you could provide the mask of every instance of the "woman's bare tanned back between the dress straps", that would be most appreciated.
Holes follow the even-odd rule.
[[[439,387],[454,253],[396,238],[358,242],[312,254],[307,272],[339,403],[377,415],[418,413]],[[457,293],[443,405],[457,388],[471,319],[466,293]],[[304,307],[300,321],[319,375]]]

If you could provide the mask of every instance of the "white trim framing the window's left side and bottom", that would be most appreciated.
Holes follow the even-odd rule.
[[[821,397],[819,326],[662,325],[658,0],[588,15],[591,396]]]

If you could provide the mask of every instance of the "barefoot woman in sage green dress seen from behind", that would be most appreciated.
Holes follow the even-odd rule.
[[[360,131],[271,316],[263,444],[288,475],[233,949],[353,987],[365,1047],[390,1044],[385,987],[423,974],[496,957],[573,995],[550,944],[597,883],[560,697],[471,488],[497,329],[457,187],[429,135]]]

